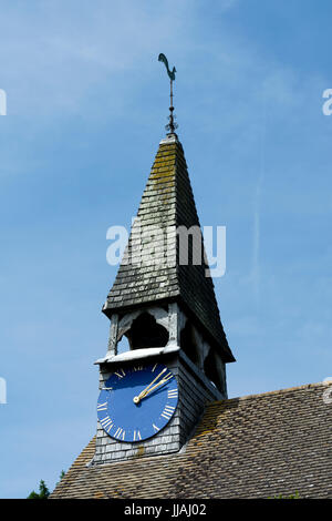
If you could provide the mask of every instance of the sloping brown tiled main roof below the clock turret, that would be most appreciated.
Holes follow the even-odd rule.
[[[323,384],[212,402],[185,450],[86,467],[94,439],[52,498],[332,498]]]

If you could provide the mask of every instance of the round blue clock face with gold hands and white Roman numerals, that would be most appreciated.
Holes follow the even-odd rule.
[[[137,364],[116,369],[105,381],[97,416],[111,438],[141,441],[164,429],[177,401],[177,381],[166,366]]]

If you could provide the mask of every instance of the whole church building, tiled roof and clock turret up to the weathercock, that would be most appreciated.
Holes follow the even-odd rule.
[[[173,517],[194,512],[190,503],[179,510],[188,499],[205,508],[207,499],[330,498],[324,382],[227,399],[226,364],[235,358],[175,132],[176,71],[159,60],[170,79],[168,133],[102,309],[111,327],[95,361],[96,436],[50,497],[127,500],[122,513],[137,515],[170,499]],[[149,507],[136,510],[136,500]]]

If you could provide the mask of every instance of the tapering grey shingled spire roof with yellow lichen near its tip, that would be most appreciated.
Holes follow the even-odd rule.
[[[111,316],[123,308],[176,299],[198,318],[211,341],[221,348],[224,360],[234,361],[220,321],[212,279],[205,276],[208,266],[205,263],[194,265],[190,251],[189,264],[181,265],[175,234],[170,239],[169,235],[167,242],[167,252],[176,252],[175,263],[169,265],[163,248],[166,243],[160,244],[159,237],[151,237],[155,227],[163,231],[170,226],[174,229],[178,226],[199,227],[184,150],[177,139],[160,143],[137,217],[141,218],[142,235],[146,233],[149,236],[149,247],[155,247],[155,256],[160,255],[165,262],[156,265],[154,260],[144,258],[141,265],[122,263],[103,311]],[[125,258],[132,254],[136,237],[132,231]]]

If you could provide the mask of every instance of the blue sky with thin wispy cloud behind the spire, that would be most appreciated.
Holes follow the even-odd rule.
[[[1,7],[0,497],[52,489],[95,432],[106,231],[129,226],[165,134],[159,52],[200,222],[227,227],[229,396],[331,376],[331,16],[328,0]]]

